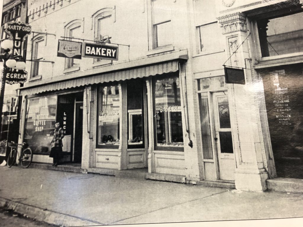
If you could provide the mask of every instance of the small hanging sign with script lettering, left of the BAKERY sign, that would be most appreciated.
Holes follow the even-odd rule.
[[[68,40],[58,41],[58,57],[81,59],[81,53],[82,43]]]

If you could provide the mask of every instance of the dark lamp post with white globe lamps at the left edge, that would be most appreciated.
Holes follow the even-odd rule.
[[[9,52],[13,49],[13,41],[12,40],[3,40],[1,42],[1,48],[4,53],[0,54],[0,59],[3,61],[3,70],[1,74],[1,87],[0,87],[0,124],[2,124],[2,108],[4,101],[4,90],[5,90],[5,74],[8,68],[16,68],[17,70],[25,69],[25,62],[21,55],[13,55]],[[17,59],[18,62],[15,60]]]

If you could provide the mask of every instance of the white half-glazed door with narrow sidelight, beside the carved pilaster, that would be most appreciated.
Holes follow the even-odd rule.
[[[205,179],[235,180],[236,168],[227,91],[198,94]]]

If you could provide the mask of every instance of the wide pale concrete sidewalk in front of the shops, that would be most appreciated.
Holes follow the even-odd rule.
[[[0,182],[0,206],[56,225],[303,216],[303,194],[241,192],[16,166],[0,166]]]

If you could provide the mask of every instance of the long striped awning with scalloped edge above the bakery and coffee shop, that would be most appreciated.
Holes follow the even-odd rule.
[[[157,56],[159,57],[159,56]],[[161,58],[156,58],[161,59]],[[74,78],[70,78],[71,75],[64,75],[52,80],[43,80],[37,82],[31,82],[26,84],[25,87],[20,87],[20,95],[32,95],[39,94],[46,91],[62,90],[74,87],[80,87],[90,84],[99,84],[111,81],[124,81],[132,78],[142,78],[148,76],[154,76],[157,74],[176,72],[179,70],[178,63],[180,59],[187,59],[186,55],[178,55],[174,60],[155,63],[151,62],[152,58],[140,59],[134,62],[126,62],[121,65],[111,65],[108,67],[102,67],[99,69],[91,69],[75,73]],[[148,60],[148,61],[147,61]],[[167,58],[166,58],[167,60]],[[149,65],[146,63],[149,62]],[[134,67],[135,65],[141,65],[141,67]],[[128,67],[127,67],[128,66]],[[119,67],[121,69],[119,69]],[[103,73],[97,73],[102,69],[103,71],[114,69],[115,71],[107,71]],[[84,74],[84,75],[83,75]],[[88,75],[85,75],[88,74]]]

